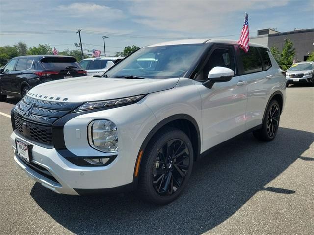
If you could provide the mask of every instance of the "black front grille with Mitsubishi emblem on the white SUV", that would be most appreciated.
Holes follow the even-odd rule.
[[[79,103],[52,102],[25,96],[14,109],[15,129],[31,141],[52,146],[53,122],[79,105]]]

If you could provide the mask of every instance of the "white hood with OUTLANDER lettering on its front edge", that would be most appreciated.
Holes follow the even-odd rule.
[[[59,102],[85,102],[117,99],[174,88],[179,78],[124,79],[76,77],[46,82],[32,88],[27,96]]]

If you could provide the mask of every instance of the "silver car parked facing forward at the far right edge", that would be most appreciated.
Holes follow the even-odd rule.
[[[314,62],[305,61],[293,64],[286,72],[287,87],[290,84],[310,84],[314,86]]]

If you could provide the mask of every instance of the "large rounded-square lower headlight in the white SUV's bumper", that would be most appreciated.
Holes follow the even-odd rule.
[[[102,152],[118,151],[117,126],[109,120],[95,120],[88,125],[89,144]]]

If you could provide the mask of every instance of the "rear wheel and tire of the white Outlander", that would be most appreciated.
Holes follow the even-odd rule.
[[[271,100],[262,123],[262,128],[253,131],[253,135],[260,141],[272,141],[275,139],[280,121],[280,106],[276,100]]]

